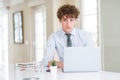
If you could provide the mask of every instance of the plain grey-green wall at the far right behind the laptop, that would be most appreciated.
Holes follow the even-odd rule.
[[[120,0],[101,0],[104,69],[120,72]]]

